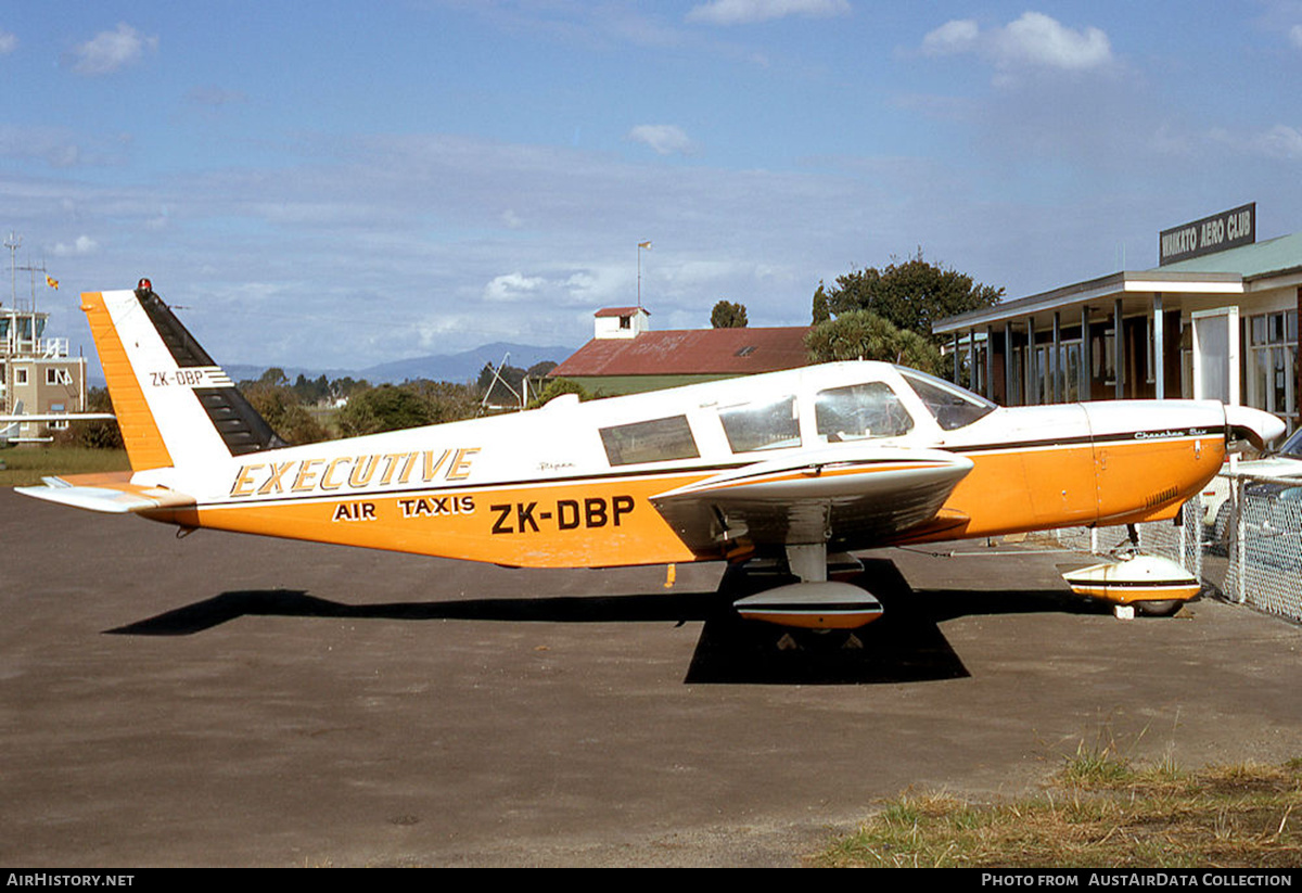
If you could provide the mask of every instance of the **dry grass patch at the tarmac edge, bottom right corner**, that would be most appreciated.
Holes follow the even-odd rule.
[[[880,868],[1302,866],[1302,760],[1180,772],[1111,751],[1069,758],[1040,794],[974,804],[892,801],[811,859]]]

